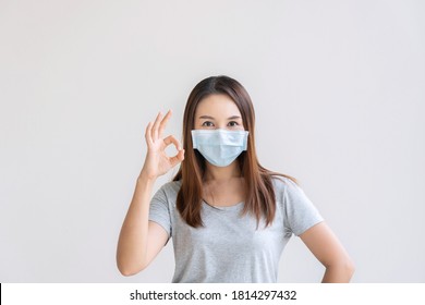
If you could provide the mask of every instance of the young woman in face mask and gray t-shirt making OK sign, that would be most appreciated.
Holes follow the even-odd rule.
[[[183,146],[163,136],[170,117],[159,113],[146,127],[146,160],[118,242],[122,274],[146,268],[172,237],[172,282],[276,282],[295,234],[326,267],[323,282],[350,281],[350,257],[296,181],[259,164],[254,108],[239,82],[214,76],[195,86]],[[156,179],[179,163],[150,198]]]

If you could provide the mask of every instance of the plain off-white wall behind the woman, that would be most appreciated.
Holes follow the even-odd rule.
[[[0,282],[170,282],[116,266],[144,130],[226,74],[260,162],[295,176],[356,265],[425,282],[423,1],[0,1]],[[156,190],[172,178],[162,176]],[[293,237],[279,281],[324,268]]]

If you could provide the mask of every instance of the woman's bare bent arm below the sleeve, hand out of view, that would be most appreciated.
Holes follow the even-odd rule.
[[[313,225],[300,235],[304,244],[326,267],[323,283],[348,283],[354,273],[354,264],[325,223]]]

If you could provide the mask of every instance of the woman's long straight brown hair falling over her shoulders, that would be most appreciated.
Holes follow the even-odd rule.
[[[211,76],[201,81],[189,96],[183,115],[184,160],[173,181],[182,180],[177,197],[177,208],[187,224],[198,228],[203,225],[201,218],[203,200],[203,178],[206,160],[199,151],[193,149],[191,131],[194,130],[195,111],[198,103],[207,96],[223,94],[238,106],[244,129],[250,132],[247,149],[239,157],[239,166],[245,181],[245,204],[242,213],[252,213],[257,223],[264,217],[266,225],[271,224],[276,213],[276,198],[272,176],[286,176],[296,183],[290,175],[277,173],[263,168],[255,150],[255,114],[251,97],[245,88],[228,76]]]

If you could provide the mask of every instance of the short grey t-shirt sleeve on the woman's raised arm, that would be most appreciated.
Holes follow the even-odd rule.
[[[150,200],[149,220],[161,225],[167,231],[168,236],[171,236],[170,208],[163,187],[159,188]]]

